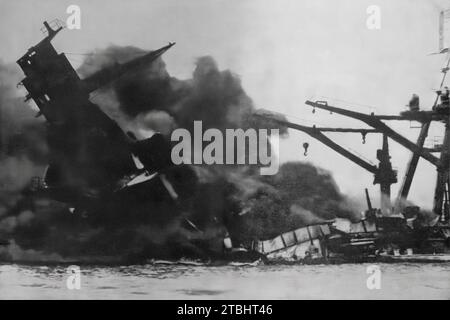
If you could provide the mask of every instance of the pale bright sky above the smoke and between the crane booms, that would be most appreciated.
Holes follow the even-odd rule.
[[[241,77],[257,107],[306,125],[351,127],[363,125],[326,112],[313,115],[304,101],[325,96],[361,112],[398,114],[417,93],[422,107],[430,108],[445,56],[427,54],[438,49],[439,12],[450,8],[450,0],[0,0],[2,60],[15,61],[39,41],[43,20],[65,20],[70,4],[80,6],[82,28],[54,40],[61,51],[109,44],[154,49],[176,41],[164,56],[174,76],[189,77],[197,57],[212,55],[220,68]],[[370,5],[381,9],[380,30],[366,26]],[[81,57],[71,61],[77,66]],[[419,133],[410,123],[392,126],[412,140]],[[430,141],[442,135],[441,126],[432,127]],[[365,145],[358,134],[329,136],[376,163],[381,136],[369,135]],[[304,142],[310,143],[306,158]],[[311,161],[332,171],[344,193],[362,197],[369,187],[378,197],[370,173],[307,135],[291,130],[280,148],[282,161]],[[391,151],[401,181],[409,152],[395,142]],[[431,208],[435,176],[421,160],[410,199]]]

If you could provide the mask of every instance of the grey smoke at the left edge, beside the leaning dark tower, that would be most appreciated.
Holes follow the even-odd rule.
[[[24,93],[16,89],[20,80],[15,66],[0,61],[0,242],[32,223],[34,212],[25,204],[31,202],[23,192],[47,162],[44,121],[36,119],[37,110],[24,103]],[[0,246],[0,256],[4,250]],[[25,253],[14,240],[7,250],[16,258],[39,255]]]

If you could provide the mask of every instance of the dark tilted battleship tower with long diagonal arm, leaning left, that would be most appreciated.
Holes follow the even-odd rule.
[[[159,184],[154,194],[176,198],[164,171],[170,166],[170,147],[161,134],[136,139],[124,132],[89,94],[125,73],[149,67],[174,43],[123,64],[104,68],[80,79],[64,53],[57,53],[52,39],[63,29],[44,22],[46,37],[31,47],[17,64],[25,78],[19,86],[28,91],[47,123],[49,165],[42,178],[33,179],[36,194],[67,203],[84,214],[101,212],[103,204],[133,203],[150,197],[149,184]]]

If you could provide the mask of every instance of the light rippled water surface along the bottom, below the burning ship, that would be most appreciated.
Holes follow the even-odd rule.
[[[0,299],[450,299],[450,264],[379,264],[381,289],[366,286],[369,264],[294,266],[0,265]]]

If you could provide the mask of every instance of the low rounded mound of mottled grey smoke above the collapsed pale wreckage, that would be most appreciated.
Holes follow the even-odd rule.
[[[330,173],[312,164],[288,162],[274,176],[253,179],[256,186],[235,217],[240,242],[269,239],[335,217],[356,219],[357,206],[339,192]]]

